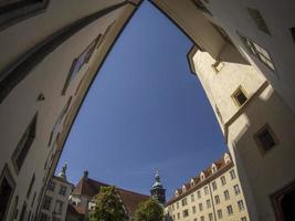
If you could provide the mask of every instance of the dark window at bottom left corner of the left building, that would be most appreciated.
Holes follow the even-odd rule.
[[[9,167],[6,165],[0,177],[0,221],[6,220],[15,182],[12,179]]]

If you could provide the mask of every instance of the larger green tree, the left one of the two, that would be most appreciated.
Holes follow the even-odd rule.
[[[91,212],[91,221],[124,221],[127,214],[115,187],[102,187],[96,198],[96,207]]]

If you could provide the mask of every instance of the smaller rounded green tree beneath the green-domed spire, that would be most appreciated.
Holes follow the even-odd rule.
[[[164,220],[162,206],[156,199],[140,202],[135,211],[134,221],[161,221]]]

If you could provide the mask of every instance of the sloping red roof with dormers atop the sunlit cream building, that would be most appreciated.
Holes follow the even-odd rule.
[[[201,172],[204,173],[204,180],[201,180],[200,175],[197,177],[192,177],[191,179],[193,179],[194,185],[191,183],[191,179],[189,182],[185,183],[183,186],[186,187],[186,191],[182,190],[182,187],[177,189],[176,191],[178,191],[178,196],[173,196],[166,204],[165,207],[176,202],[177,200],[186,197],[187,194],[190,194],[191,192],[193,192],[194,190],[199,189],[200,187],[202,187],[203,185],[206,185],[208,181],[211,181],[212,179],[214,179],[217,176],[220,176],[221,172],[223,172],[224,170],[230,169],[233,166],[233,162],[231,160],[230,164],[225,164],[225,159],[224,156],[229,155],[228,152],[225,152],[223,155],[223,157],[221,157],[220,159],[218,159],[217,161],[212,162],[217,166],[217,172],[212,172],[212,164],[210,165],[210,167],[208,167],[207,169],[202,170]],[[200,172],[200,173],[201,173]]]

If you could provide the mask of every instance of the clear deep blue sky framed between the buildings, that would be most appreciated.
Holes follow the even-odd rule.
[[[201,30],[200,30],[201,31]],[[192,42],[144,2],[123,31],[72,127],[57,171],[149,193],[159,170],[169,199],[226,150],[187,53]]]

